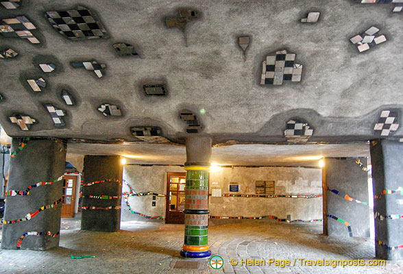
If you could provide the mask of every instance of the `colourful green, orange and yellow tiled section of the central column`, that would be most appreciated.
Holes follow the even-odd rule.
[[[185,258],[210,257],[208,243],[208,171],[210,166],[185,166],[185,236],[180,255]]]

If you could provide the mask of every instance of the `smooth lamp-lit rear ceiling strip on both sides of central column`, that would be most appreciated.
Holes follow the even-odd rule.
[[[122,155],[128,164],[184,164],[185,147],[172,145],[69,144],[67,153]],[[247,166],[317,166],[322,157],[369,157],[367,143],[343,145],[232,145],[213,147],[210,162]]]

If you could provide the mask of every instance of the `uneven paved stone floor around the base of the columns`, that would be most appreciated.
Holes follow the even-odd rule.
[[[79,227],[78,219],[62,219],[60,247],[48,251],[0,249],[0,273],[403,273],[403,261],[387,261],[386,266],[301,266],[298,258],[366,262],[374,258],[373,240],[324,237],[317,224],[257,220],[210,226],[212,254],[223,258],[219,270],[211,269],[208,260],[180,258],[183,225],[122,222],[121,228],[127,230],[114,233]],[[71,255],[97,257],[72,260]],[[232,266],[232,258],[239,264]],[[252,258],[291,260],[291,266],[240,265],[241,259]]]

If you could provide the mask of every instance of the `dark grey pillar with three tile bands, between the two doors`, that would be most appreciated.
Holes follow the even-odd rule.
[[[120,229],[122,177],[120,156],[84,157],[82,230],[116,232]]]

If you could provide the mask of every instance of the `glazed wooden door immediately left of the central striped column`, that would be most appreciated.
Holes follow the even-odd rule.
[[[184,224],[186,172],[167,173],[167,206],[165,223]]]

